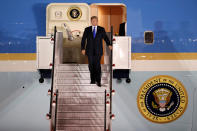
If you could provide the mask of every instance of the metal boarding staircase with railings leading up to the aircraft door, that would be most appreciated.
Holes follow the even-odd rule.
[[[54,32],[50,111],[51,131],[111,131],[111,64],[103,64],[101,87],[90,84],[87,64],[62,64],[62,33]],[[59,46],[59,47],[58,47]]]

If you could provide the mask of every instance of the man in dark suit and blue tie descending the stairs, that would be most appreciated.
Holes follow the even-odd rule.
[[[109,38],[106,35],[105,29],[98,26],[98,17],[91,17],[92,26],[85,28],[81,40],[81,52],[88,56],[88,67],[90,70],[91,84],[97,84],[101,87],[101,57],[103,55],[104,39],[110,50],[112,50]],[[87,40],[87,44],[86,44]]]

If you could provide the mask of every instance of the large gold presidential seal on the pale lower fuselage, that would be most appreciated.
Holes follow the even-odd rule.
[[[178,119],[187,108],[188,96],[183,84],[177,79],[159,75],[142,85],[137,104],[140,113],[156,123]]]

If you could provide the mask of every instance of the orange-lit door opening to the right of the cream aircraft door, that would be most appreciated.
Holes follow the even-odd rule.
[[[124,4],[98,3],[91,5],[91,16],[98,16],[98,24],[105,28],[108,36],[111,35],[111,26],[113,26],[113,35],[119,35],[119,27],[121,23],[127,21],[127,9]],[[107,63],[109,58],[109,49],[103,42],[103,56],[101,63]]]

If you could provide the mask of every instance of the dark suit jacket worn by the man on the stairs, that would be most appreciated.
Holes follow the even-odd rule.
[[[109,38],[105,32],[105,29],[101,26],[97,26],[97,32],[95,38],[93,37],[92,26],[85,28],[83,37],[81,40],[81,50],[86,50],[86,55],[103,55],[103,42],[105,40],[107,46],[111,45]],[[87,40],[87,44],[86,44]]]

